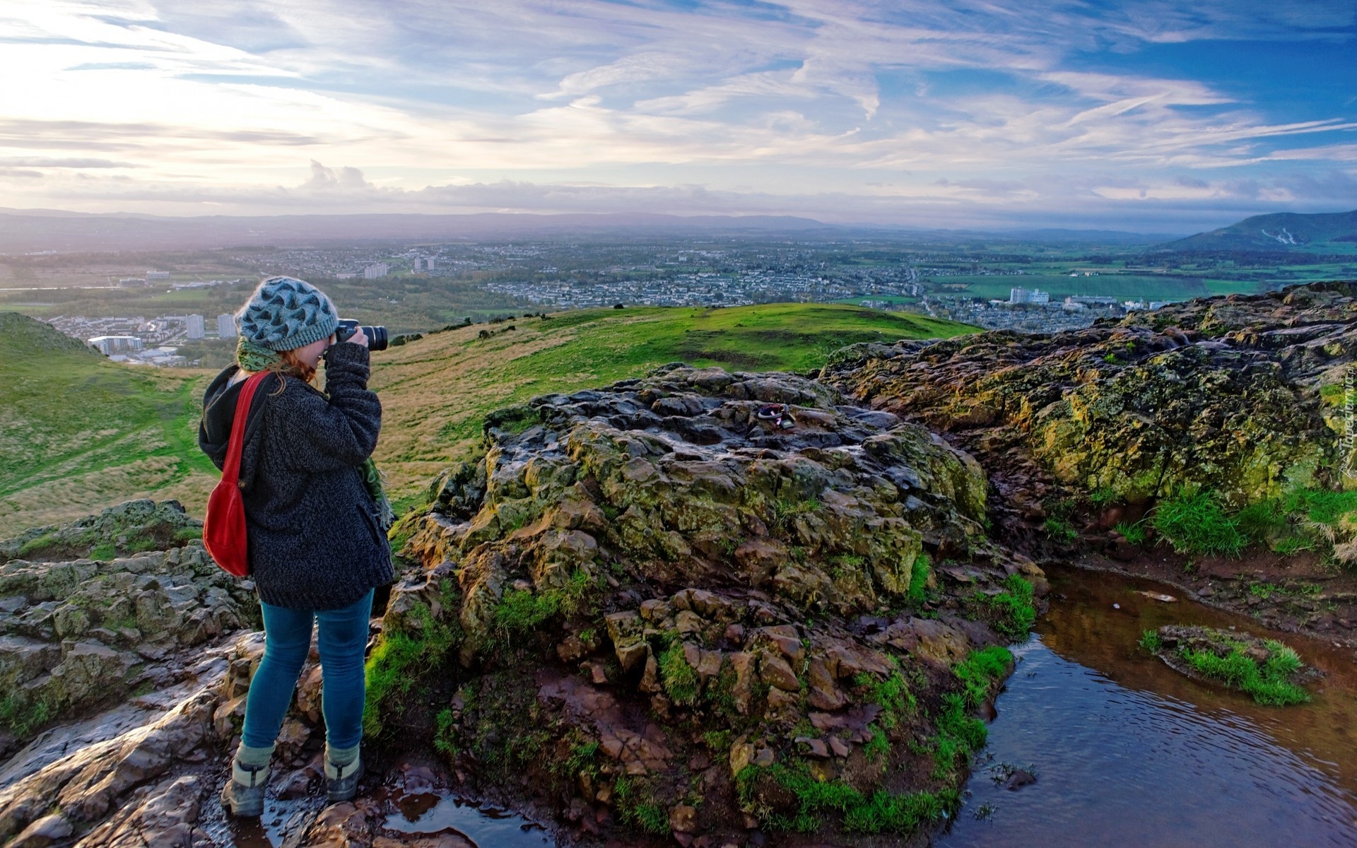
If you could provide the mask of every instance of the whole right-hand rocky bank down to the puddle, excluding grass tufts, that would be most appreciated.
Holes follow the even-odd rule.
[[[1274,535],[1240,559],[1177,552],[1143,520],[1194,490],[1238,510],[1292,488],[1341,488],[1342,468],[1357,467],[1341,438],[1354,350],[1357,284],[1330,282],[1197,298],[1054,335],[858,345],[821,379],[974,455],[989,475],[996,539],[1038,562],[1155,577],[1205,590],[1208,602],[1261,606],[1277,627],[1353,640],[1357,578],[1341,567],[1357,562],[1353,528],[1299,548]],[[1145,541],[1118,532],[1137,522]],[[1242,597],[1217,594],[1221,579],[1240,581]],[[1266,593],[1246,604],[1259,581],[1322,592],[1308,598],[1315,609]]]

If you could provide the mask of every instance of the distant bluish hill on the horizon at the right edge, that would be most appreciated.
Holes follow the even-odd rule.
[[[1357,250],[1357,210],[1257,214],[1229,227],[1160,244],[1156,250],[1350,254]]]

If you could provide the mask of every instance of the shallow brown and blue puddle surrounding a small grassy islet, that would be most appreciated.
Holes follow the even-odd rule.
[[[1177,590],[1054,570],[1050,613],[1015,647],[970,798],[938,845],[1357,845],[1352,649],[1276,634]],[[1114,606],[1115,605],[1115,606]],[[1282,639],[1327,677],[1299,707],[1182,677],[1136,642],[1162,624]],[[1029,769],[1016,791],[995,777]]]

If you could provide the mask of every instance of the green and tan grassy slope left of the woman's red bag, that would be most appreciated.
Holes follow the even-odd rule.
[[[201,514],[216,471],[197,444],[206,380],[118,365],[0,312],[0,536],[133,497]]]

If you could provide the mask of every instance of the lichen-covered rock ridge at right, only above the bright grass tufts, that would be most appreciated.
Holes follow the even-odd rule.
[[[1352,479],[1335,471],[1357,457],[1339,456],[1342,422],[1324,399],[1357,350],[1354,289],[1198,298],[1054,335],[901,342],[840,357],[821,379],[973,452],[1015,541],[1069,521],[1050,510],[1071,493],[1136,507],[1212,490],[1242,507]]]

